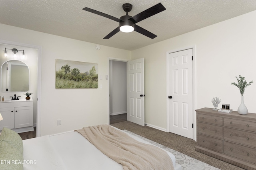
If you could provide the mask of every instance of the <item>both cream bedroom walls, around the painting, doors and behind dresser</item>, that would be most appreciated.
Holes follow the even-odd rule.
[[[167,28],[166,28],[167,29]],[[134,51],[126,51],[0,24],[3,40],[42,47],[41,135],[108,122],[107,80],[103,89],[55,89],[55,59],[98,63],[108,74],[108,57],[145,59],[145,121],[166,128],[166,51],[196,46],[196,108],[213,107],[212,97],[237,110],[241,98],[231,85],[235,76],[256,81],[256,11]],[[150,40],[149,40],[150,41]],[[74,53],[75,51],[75,53]],[[254,84],[255,83],[255,84]],[[244,94],[249,112],[256,113],[256,82]],[[57,126],[56,120],[62,125]],[[194,120],[195,123],[195,120]]]

